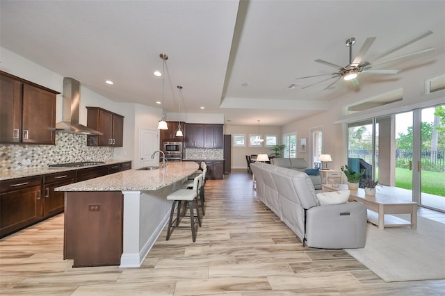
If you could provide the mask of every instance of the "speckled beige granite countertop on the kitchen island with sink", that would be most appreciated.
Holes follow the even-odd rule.
[[[95,179],[72,183],[56,188],[56,191],[147,191],[169,186],[197,170],[193,162],[171,162],[159,170],[127,170]]]

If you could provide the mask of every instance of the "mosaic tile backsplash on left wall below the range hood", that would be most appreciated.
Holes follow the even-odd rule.
[[[86,138],[86,135],[56,132],[56,145],[0,144],[0,172],[113,159],[113,147],[87,146]]]

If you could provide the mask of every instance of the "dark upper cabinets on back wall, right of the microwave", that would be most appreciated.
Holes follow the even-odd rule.
[[[223,124],[186,124],[186,148],[223,149]]]

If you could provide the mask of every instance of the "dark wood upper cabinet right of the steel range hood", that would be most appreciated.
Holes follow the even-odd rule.
[[[88,135],[88,146],[122,147],[124,144],[124,117],[99,107],[86,107],[87,126],[103,135]]]

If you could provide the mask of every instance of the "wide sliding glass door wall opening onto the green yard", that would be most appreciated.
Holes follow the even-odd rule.
[[[348,124],[348,165],[445,211],[445,106]]]

